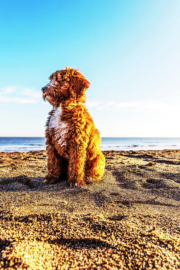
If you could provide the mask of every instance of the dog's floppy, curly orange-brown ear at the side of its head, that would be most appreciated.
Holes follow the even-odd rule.
[[[85,102],[85,90],[89,87],[90,83],[81,73],[77,72],[77,70],[71,69],[70,71],[70,95],[77,101]]]

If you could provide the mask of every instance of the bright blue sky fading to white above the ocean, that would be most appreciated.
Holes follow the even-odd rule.
[[[0,136],[44,136],[41,88],[66,65],[91,82],[102,137],[180,137],[179,13],[179,0],[2,1]]]

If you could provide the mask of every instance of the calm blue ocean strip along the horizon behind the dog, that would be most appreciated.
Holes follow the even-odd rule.
[[[0,152],[45,150],[44,137],[0,137]],[[101,150],[164,150],[180,149],[180,138],[102,137]]]

